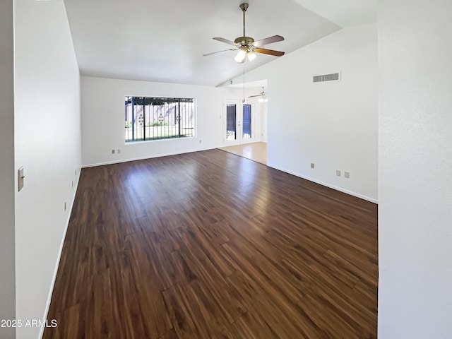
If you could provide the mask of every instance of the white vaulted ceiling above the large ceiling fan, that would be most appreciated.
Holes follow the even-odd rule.
[[[246,35],[290,53],[347,25],[376,21],[376,0],[64,0],[81,74],[105,78],[218,85],[244,71],[233,46],[213,40]],[[307,9],[309,8],[309,9]],[[314,13],[314,12],[317,13]],[[275,57],[258,54],[249,71]]]

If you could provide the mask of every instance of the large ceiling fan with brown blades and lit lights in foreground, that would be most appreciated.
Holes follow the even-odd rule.
[[[265,39],[254,41],[252,37],[247,37],[245,34],[245,12],[248,9],[248,4],[245,2],[239,6],[239,8],[243,12],[243,36],[237,37],[236,40],[231,41],[227,40],[223,37],[214,37],[213,40],[218,40],[220,42],[225,42],[226,44],[232,44],[235,48],[225,49],[224,51],[213,52],[208,54],[203,54],[204,57],[208,55],[227,52],[227,51],[239,51],[237,56],[234,58],[239,64],[245,62],[246,57],[248,57],[249,61],[253,61],[256,59],[256,53],[269,54],[275,57],[281,57],[284,55],[284,52],[274,51],[273,49],[261,48],[261,46],[266,44],[273,44],[273,42],[283,41],[284,37],[280,35],[273,35],[273,37],[266,37]]]

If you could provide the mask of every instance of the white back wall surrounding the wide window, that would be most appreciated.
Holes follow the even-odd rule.
[[[239,92],[225,88],[81,78],[83,165],[100,165],[216,148],[222,145],[223,98]],[[196,138],[124,143],[124,96],[195,97]],[[112,149],[121,150],[112,154]]]

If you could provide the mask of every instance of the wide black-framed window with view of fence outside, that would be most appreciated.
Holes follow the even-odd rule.
[[[182,97],[125,97],[125,140],[195,136],[195,100]]]

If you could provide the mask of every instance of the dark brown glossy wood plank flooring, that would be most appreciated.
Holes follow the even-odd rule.
[[[221,150],[85,168],[44,338],[376,338],[377,207]]]

